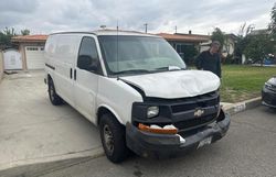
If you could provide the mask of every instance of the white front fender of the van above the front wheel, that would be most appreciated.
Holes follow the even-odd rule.
[[[131,121],[132,103],[136,101],[141,102],[142,97],[132,87],[117,78],[99,77],[97,106],[110,107],[121,124]]]

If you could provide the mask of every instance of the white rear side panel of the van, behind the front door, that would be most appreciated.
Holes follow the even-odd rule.
[[[73,107],[74,67],[81,40],[82,36],[76,34],[54,34],[49,36],[45,45],[46,68],[50,70],[55,90]]]

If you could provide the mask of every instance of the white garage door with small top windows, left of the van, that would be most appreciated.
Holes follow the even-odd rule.
[[[26,46],[25,59],[28,69],[43,69],[45,65],[44,46]]]

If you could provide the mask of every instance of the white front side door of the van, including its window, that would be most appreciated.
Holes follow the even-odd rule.
[[[91,58],[97,58],[98,60],[98,52],[95,41],[96,38],[93,36],[84,36],[79,46],[78,57],[89,56]],[[99,73],[81,69],[77,65],[77,60],[74,69],[75,107],[82,114],[94,122],[96,115],[95,106]]]

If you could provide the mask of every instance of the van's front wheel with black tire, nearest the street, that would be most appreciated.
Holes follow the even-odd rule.
[[[126,146],[126,129],[112,114],[103,114],[99,122],[102,144],[107,158],[113,163],[123,162],[129,154]]]

